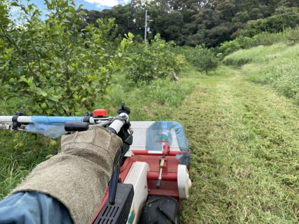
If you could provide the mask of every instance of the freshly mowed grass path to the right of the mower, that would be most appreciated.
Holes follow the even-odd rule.
[[[170,117],[193,155],[181,223],[299,223],[299,107],[222,69],[200,78]]]

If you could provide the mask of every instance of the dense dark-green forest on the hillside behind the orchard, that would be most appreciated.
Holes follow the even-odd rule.
[[[115,18],[119,35],[132,32],[142,41],[145,10],[152,40],[159,33],[177,45],[216,47],[239,35],[252,37],[263,31],[280,32],[299,24],[298,0],[132,0],[102,11],[86,10],[85,23]]]

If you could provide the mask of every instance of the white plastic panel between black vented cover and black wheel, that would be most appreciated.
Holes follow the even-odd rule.
[[[124,184],[133,184],[134,198],[129,213],[129,221],[134,219],[133,224],[138,224],[142,214],[142,207],[148,198],[148,182],[147,174],[149,172],[149,164],[146,162],[135,162],[124,181]]]

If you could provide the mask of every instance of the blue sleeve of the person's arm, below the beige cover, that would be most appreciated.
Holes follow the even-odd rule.
[[[18,192],[0,201],[0,224],[72,224],[68,209],[38,192]]]

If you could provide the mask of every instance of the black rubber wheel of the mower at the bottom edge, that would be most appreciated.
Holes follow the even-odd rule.
[[[179,224],[179,203],[163,195],[148,197],[139,224]]]

